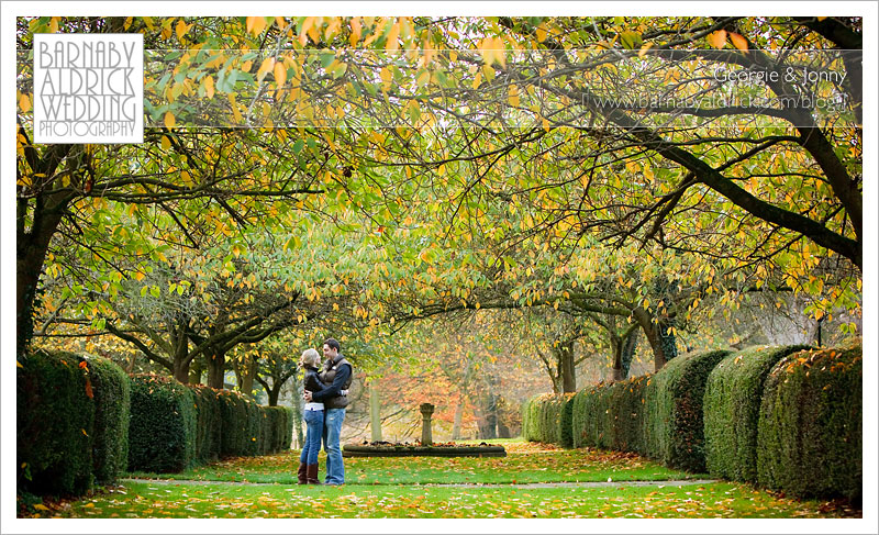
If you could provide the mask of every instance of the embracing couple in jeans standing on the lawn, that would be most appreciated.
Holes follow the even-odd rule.
[[[305,445],[299,456],[299,484],[321,484],[318,479],[318,454],[321,438],[326,452],[326,484],[345,482],[345,466],[342,464],[340,439],[342,423],[345,421],[345,406],[348,404],[348,388],[353,367],[341,353],[334,338],[323,343],[323,369],[319,369],[320,355],[315,349],[305,349],[299,365],[305,370]]]

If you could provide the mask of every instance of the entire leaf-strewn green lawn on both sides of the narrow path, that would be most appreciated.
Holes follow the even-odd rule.
[[[67,519],[800,519],[860,514],[838,503],[781,498],[741,483],[627,484],[705,477],[669,470],[628,454],[564,450],[521,442],[504,446],[509,452],[505,458],[345,459],[347,483],[343,487],[294,484],[294,453],[238,457],[180,475],[163,475],[160,480],[124,481],[90,498],[51,503],[37,513]],[[613,484],[607,484],[609,477]],[[198,481],[183,481],[189,479]],[[605,484],[521,487],[561,481]],[[266,484],[248,484],[255,482]],[[476,486],[437,486],[442,483]]]

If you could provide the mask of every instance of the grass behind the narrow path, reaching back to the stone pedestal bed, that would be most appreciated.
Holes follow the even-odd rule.
[[[666,468],[635,454],[563,449],[546,444],[509,442],[507,457],[353,457],[345,480],[358,484],[545,483],[561,481],[666,481],[705,479]],[[196,481],[296,483],[299,453],[234,457],[180,473],[134,472],[131,477]],[[321,454],[321,473],[326,459]]]

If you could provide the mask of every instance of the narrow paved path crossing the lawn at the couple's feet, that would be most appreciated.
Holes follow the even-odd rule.
[[[252,486],[268,486],[268,484],[283,484],[296,486],[294,483],[264,483],[253,481],[201,481],[193,479],[134,479],[125,478],[121,482],[137,482],[137,483],[153,483],[153,484],[252,484]],[[679,479],[679,480],[664,480],[664,481],[559,481],[553,483],[351,483],[357,487],[463,487],[468,489],[491,489],[491,488],[511,488],[511,489],[552,489],[557,487],[576,487],[576,488],[604,488],[604,487],[680,487],[685,484],[708,484],[716,483],[716,479]]]

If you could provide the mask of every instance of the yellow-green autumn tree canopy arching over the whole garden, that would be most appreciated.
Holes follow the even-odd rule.
[[[60,31],[144,34],[143,144],[32,143],[27,54]],[[861,33],[856,18],[20,19],[19,350],[34,330],[110,332],[180,380],[208,358],[222,386],[229,352],[281,333],[368,344],[541,306],[547,326],[604,333],[620,367],[639,330],[658,368],[700,310],[760,292],[854,332]]]

